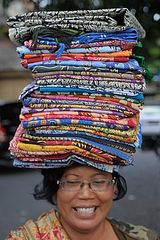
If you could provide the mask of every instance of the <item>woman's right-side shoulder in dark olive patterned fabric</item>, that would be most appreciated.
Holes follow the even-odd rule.
[[[121,222],[115,219],[110,220],[111,223],[120,231],[136,240],[160,240],[160,235],[155,231],[141,225],[134,225],[127,222]]]

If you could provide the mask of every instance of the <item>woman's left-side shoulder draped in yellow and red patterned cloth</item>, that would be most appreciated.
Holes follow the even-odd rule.
[[[11,231],[5,240],[28,240],[37,239],[38,235],[46,234],[50,231],[50,228],[55,221],[55,212],[53,209],[40,215],[35,221],[28,220],[23,226],[20,226],[17,230]]]

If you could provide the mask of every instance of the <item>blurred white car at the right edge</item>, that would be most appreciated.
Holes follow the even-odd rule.
[[[141,112],[142,150],[154,150],[160,157],[160,101],[146,100]]]

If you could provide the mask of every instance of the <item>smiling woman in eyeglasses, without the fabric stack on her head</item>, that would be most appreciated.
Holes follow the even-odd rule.
[[[37,221],[29,220],[6,240],[93,239],[158,240],[160,236],[143,226],[109,219],[113,200],[127,191],[125,179],[81,164],[43,170],[43,184],[35,187],[36,199],[47,199],[56,210],[49,210]]]

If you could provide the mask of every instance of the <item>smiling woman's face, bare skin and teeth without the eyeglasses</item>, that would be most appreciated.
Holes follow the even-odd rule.
[[[112,174],[87,166],[70,167],[61,178],[62,181],[85,182],[104,179],[111,180]],[[79,191],[67,191],[60,186],[57,192],[57,205],[61,223],[66,230],[86,232],[102,226],[112,206],[114,188],[114,185],[110,185],[104,191],[93,191],[85,184]]]

